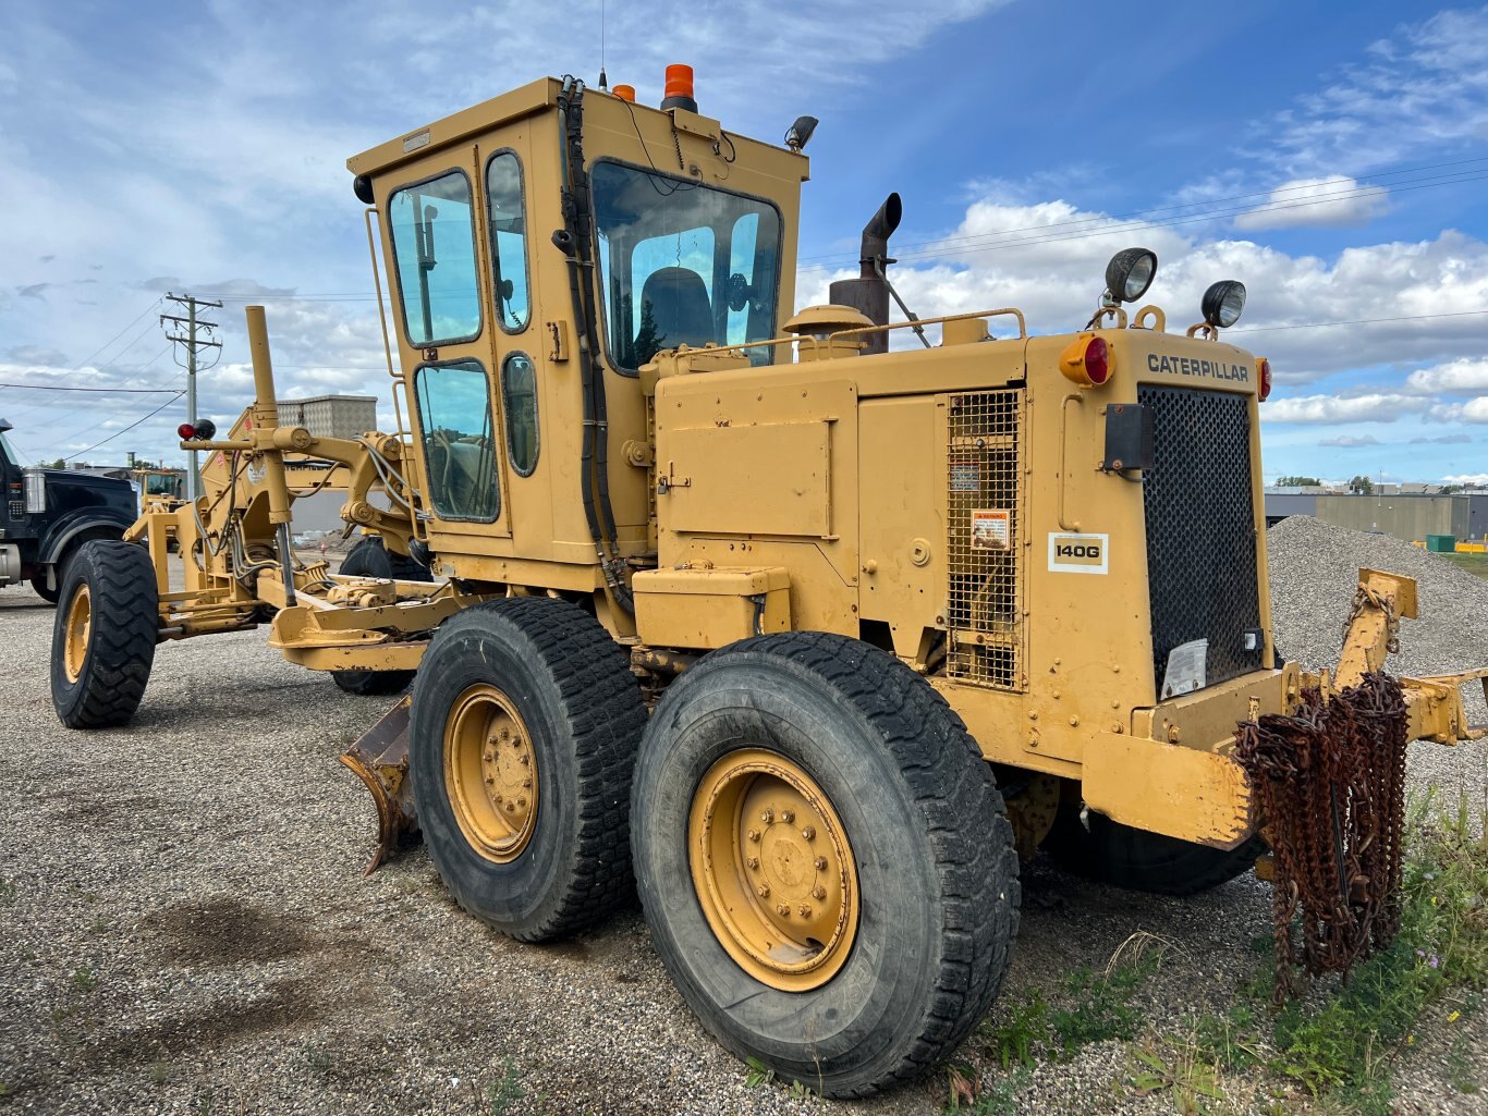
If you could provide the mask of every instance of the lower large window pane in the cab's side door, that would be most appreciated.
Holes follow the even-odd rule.
[[[481,362],[424,365],[414,373],[414,393],[434,512],[440,519],[494,521],[501,494],[490,381]]]

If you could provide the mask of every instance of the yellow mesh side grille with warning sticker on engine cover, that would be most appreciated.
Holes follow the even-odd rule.
[[[951,396],[946,674],[1022,689],[1022,393]]]

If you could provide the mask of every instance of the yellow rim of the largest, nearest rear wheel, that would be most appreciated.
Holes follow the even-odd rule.
[[[820,988],[857,934],[857,866],[827,796],[796,763],[734,751],[702,777],[687,818],[687,859],[719,943],[781,991]]]

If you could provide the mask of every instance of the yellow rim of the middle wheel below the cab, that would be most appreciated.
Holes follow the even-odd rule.
[[[537,824],[537,756],[516,705],[496,686],[470,686],[445,720],[445,787],[470,847],[506,865]]]

